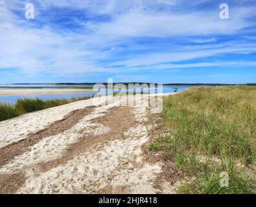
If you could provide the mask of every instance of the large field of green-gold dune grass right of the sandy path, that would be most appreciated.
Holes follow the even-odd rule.
[[[162,151],[184,176],[179,193],[251,193],[246,167],[256,158],[256,87],[200,87],[164,100],[159,136],[149,149]],[[239,168],[244,166],[244,168]],[[220,187],[220,173],[229,187]]]

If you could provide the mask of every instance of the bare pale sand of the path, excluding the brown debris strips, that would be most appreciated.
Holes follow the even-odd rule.
[[[61,157],[67,146],[78,142],[81,136],[78,131],[81,129],[91,135],[106,133],[109,130],[108,126],[95,125],[91,120],[103,116],[111,107],[121,105],[121,98],[116,97],[114,100],[110,105],[96,107],[71,129],[45,137],[25,153],[14,157],[1,166],[0,175],[16,173],[24,170],[23,168],[30,170],[27,171],[25,184],[17,193],[97,193],[106,190],[111,190],[111,193],[157,193],[159,189],[154,187],[154,179],[161,173],[162,163],[145,162],[145,155],[141,149],[143,144],[148,142],[148,130],[152,127],[150,124],[145,125],[146,104],[132,107],[136,124],[128,131],[124,131],[125,138],[99,143],[91,151],[34,177],[34,165]],[[142,100],[146,103],[148,96],[143,96]],[[61,120],[71,111],[102,102],[104,100],[100,98],[93,98],[1,122],[0,130],[5,133],[1,136],[0,147],[21,140],[30,132]]]

